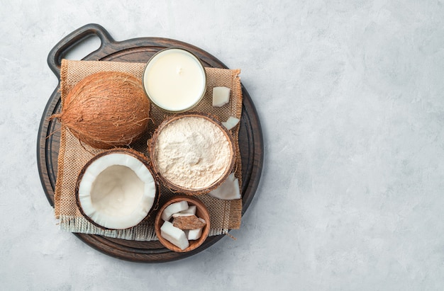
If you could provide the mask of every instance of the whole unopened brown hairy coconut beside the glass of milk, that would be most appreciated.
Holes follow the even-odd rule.
[[[99,149],[131,144],[147,130],[150,101],[131,74],[100,72],[72,88],[52,115],[80,141]]]

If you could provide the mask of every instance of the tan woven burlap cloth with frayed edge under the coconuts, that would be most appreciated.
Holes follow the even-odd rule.
[[[133,74],[136,78],[141,79],[145,64],[130,62],[100,62],[100,61],[71,61],[62,60],[62,68],[60,71],[60,91],[62,105],[65,96],[80,80],[90,74],[96,72],[126,72]],[[225,121],[230,116],[240,118],[242,113],[242,89],[240,87],[240,70],[205,68],[207,74],[207,89],[202,101],[192,110],[197,112],[212,113],[221,121]],[[226,86],[231,88],[231,98],[228,105],[221,108],[212,106],[213,87]],[[151,137],[157,125],[162,120],[170,116],[170,113],[151,106],[152,122],[149,125],[147,134],[138,142],[131,144],[133,149],[138,150],[148,156],[147,140]],[[99,122],[99,120],[98,120]],[[241,181],[241,161],[238,144],[239,125],[233,130],[233,140],[237,151],[235,163],[235,176]],[[55,186],[55,217],[60,220],[60,228],[69,232],[79,232],[84,234],[100,234],[119,239],[131,239],[136,241],[152,241],[157,240],[154,230],[154,218],[156,211],[152,212],[140,224],[131,229],[124,230],[104,230],[94,226],[85,219],[75,200],[75,184],[77,175],[87,161],[94,155],[99,154],[103,150],[89,147],[74,137],[70,130],[66,127],[61,128],[60,152],[58,156],[57,183]],[[161,186],[159,206],[162,205],[167,198],[177,195],[170,190]],[[238,229],[240,227],[240,219],[242,215],[242,200],[219,200],[209,195],[197,196],[206,207],[208,207],[211,217],[210,236],[218,234],[226,234],[229,229]]]

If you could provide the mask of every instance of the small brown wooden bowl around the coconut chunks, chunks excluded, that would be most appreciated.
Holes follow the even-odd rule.
[[[174,202],[179,202],[179,201],[187,201],[190,206],[196,205],[196,217],[202,218],[206,222],[204,228],[202,229],[201,237],[199,239],[189,241],[189,247],[187,247],[187,249],[183,249],[183,250],[180,249],[179,247],[175,246],[174,244],[170,243],[170,241],[167,241],[166,239],[164,239],[160,235],[160,227],[162,227],[162,224],[164,222],[162,219],[163,210],[165,210],[165,208],[168,205],[170,205]],[[206,206],[204,205],[204,203],[201,202],[201,200],[199,200],[197,198],[194,198],[194,197],[188,196],[188,195],[174,196],[174,198],[170,198],[170,200],[167,200],[167,202],[165,202],[165,204],[162,207],[160,207],[160,210],[159,210],[159,212],[157,212],[157,215],[155,218],[154,229],[155,229],[157,238],[159,239],[160,243],[163,246],[165,246],[165,248],[170,249],[171,251],[177,251],[180,253],[192,251],[194,249],[197,249],[201,244],[203,244],[204,241],[206,240],[206,238],[208,237],[208,234],[210,232],[210,213],[209,213],[208,209],[206,208]]]

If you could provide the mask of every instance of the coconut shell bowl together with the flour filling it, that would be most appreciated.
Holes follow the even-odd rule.
[[[228,178],[235,164],[230,132],[206,113],[167,118],[148,141],[152,168],[171,190],[209,193]]]

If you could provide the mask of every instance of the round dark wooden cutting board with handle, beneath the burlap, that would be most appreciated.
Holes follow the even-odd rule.
[[[194,52],[204,63],[205,67],[227,68],[222,62],[216,59],[216,57],[185,42],[166,38],[134,38],[116,42],[101,25],[88,24],[74,30],[70,35],[60,40],[50,51],[48,55],[48,65],[59,81],[62,58],[72,47],[94,35],[100,38],[101,46],[95,52],[91,52],[87,57],[84,57],[84,60],[148,62],[148,59],[159,50],[166,47],[181,47]],[[57,157],[60,147],[60,130],[58,130],[60,129],[60,124],[57,120],[49,120],[48,118],[60,110],[59,89],[60,83],[50,96],[45,111],[43,112],[37,141],[40,180],[42,181],[46,197],[52,207],[54,206]],[[240,155],[242,156],[242,214],[244,214],[255,195],[257,185],[260,181],[263,161],[263,141],[260,121],[255,106],[243,86],[242,91],[243,108],[240,120],[239,146]],[[210,236],[204,244],[194,251],[176,253],[166,249],[158,241],[128,241],[91,234],[75,235],[84,241],[84,243],[110,256],[143,263],[160,263],[186,258],[203,251],[224,237],[224,235]]]

